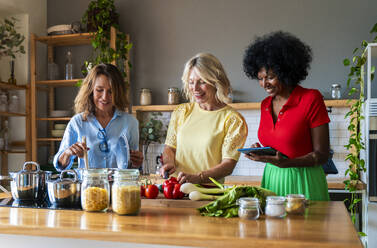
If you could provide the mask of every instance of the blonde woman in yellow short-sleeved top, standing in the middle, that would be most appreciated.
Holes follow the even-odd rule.
[[[160,173],[177,176],[180,183],[223,181],[247,137],[244,118],[227,105],[229,79],[215,56],[199,53],[186,63],[182,81],[190,103],[171,116]]]

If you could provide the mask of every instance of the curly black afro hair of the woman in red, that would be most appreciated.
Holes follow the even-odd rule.
[[[308,75],[312,61],[311,48],[287,32],[273,32],[256,40],[245,50],[243,67],[251,79],[270,69],[286,86],[296,86]]]

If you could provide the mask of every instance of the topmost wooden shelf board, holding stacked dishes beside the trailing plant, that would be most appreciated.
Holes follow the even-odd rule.
[[[36,37],[36,41],[50,46],[77,46],[89,45],[94,37],[91,33],[51,35]]]

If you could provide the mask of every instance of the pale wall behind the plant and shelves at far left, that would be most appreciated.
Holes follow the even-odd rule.
[[[29,66],[29,37],[30,33],[38,35],[46,34],[47,26],[47,0],[0,0],[0,19],[5,17],[16,17],[18,19],[16,28],[25,36],[25,54],[19,54],[15,63],[15,76],[17,84],[24,85],[30,81]],[[45,52],[38,57],[40,73],[46,72]],[[0,77],[6,81],[10,75],[9,59],[0,61]],[[20,98],[20,111],[25,111],[25,94],[23,91],[14,92]],[[11,141],[25,140],[25,118],[10,118]],[[24,154],[10,154],[8,158],[10,171],[19,170],[25,161]]]

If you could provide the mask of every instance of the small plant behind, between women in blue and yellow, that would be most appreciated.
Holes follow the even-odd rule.
[[[149,174],[149,163],[148,163],[148,147],[151,143],[157,142],[161,143],[163,138],[166,136],[166,130],[161,120],[158,116],[161,116],[161,112],[152,113],[150,119],[143,122],[140,126],[140,141],[143,144],[143,173]]]

